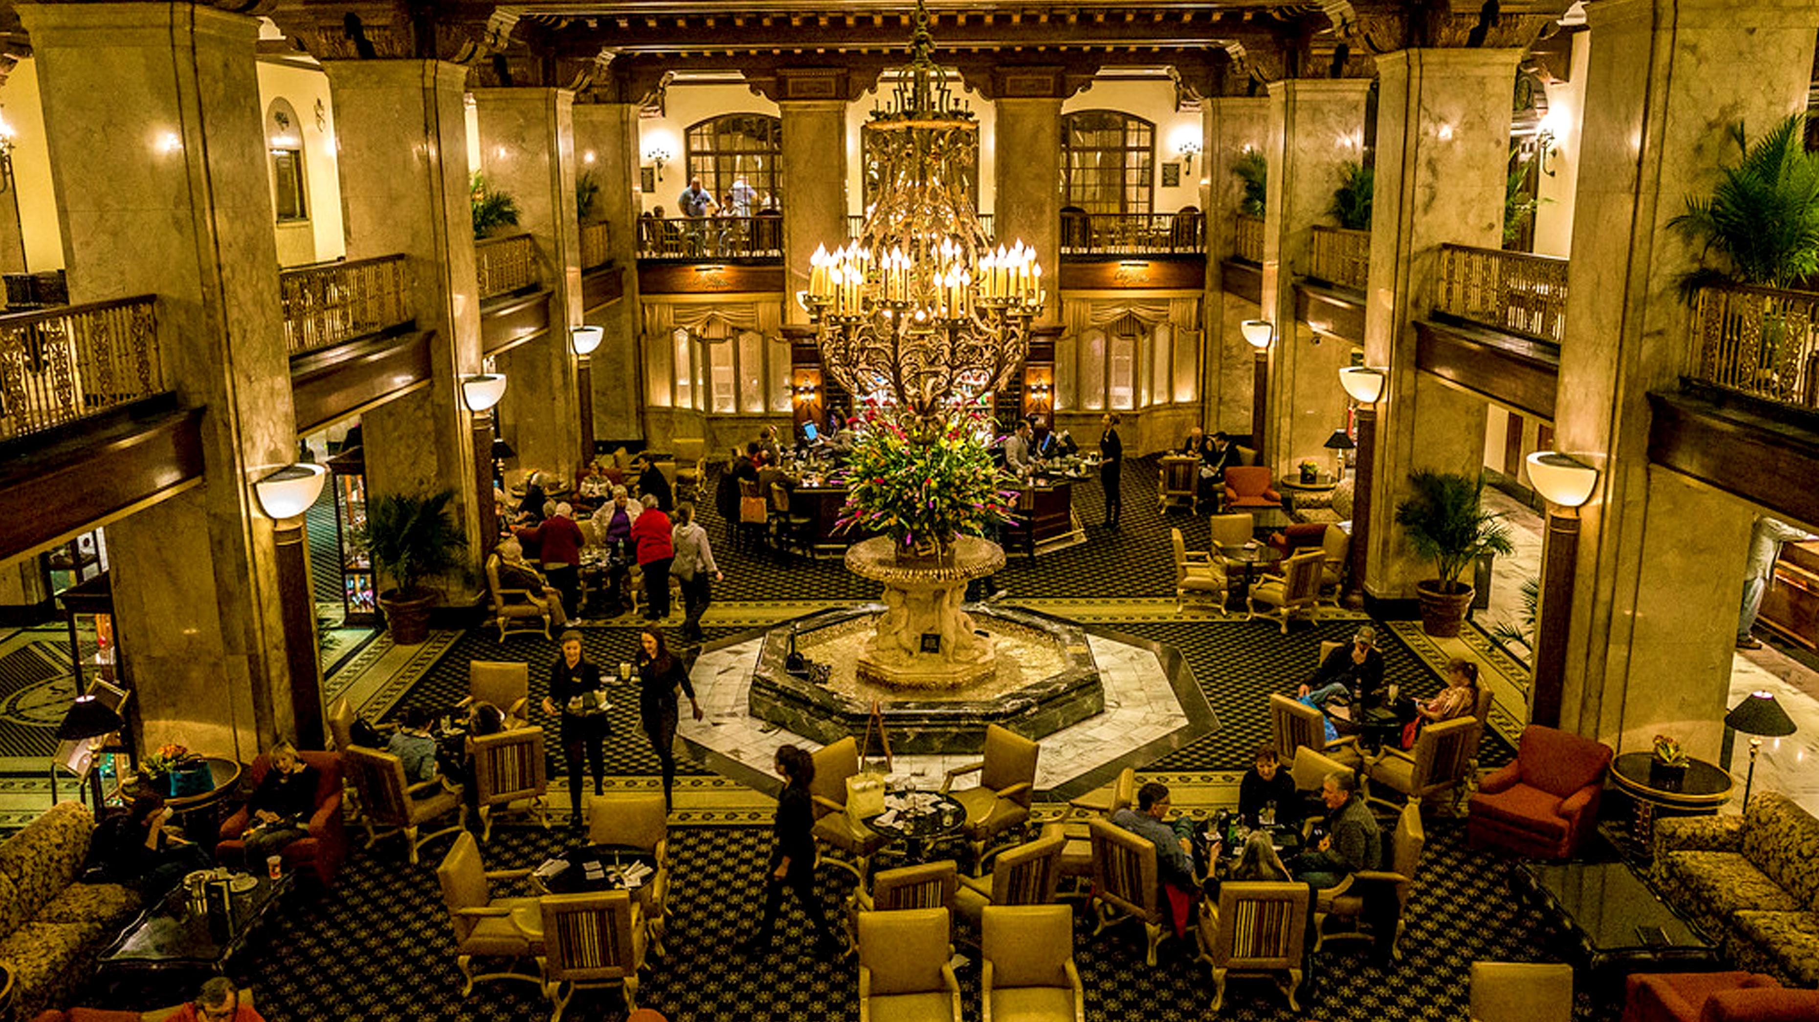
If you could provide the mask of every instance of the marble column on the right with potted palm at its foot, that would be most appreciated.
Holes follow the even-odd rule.
[[[1441,244],[1501,247],[1517,49],[1404,49],[1377,56],[1377,189],[1372,200],[1364,362],[1388,369],[1364,591],[1413,598],[1433,566],[1395,526],[1415,469],[1475,475],[1484,402],[1415,371],[1413,322],[1433,306]],[[1332,427],[1328,427],[1330,431]]]

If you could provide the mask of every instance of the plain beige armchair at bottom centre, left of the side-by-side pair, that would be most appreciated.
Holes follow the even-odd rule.
[[[960,1022],[948,909],[859,917],[859,1022]]]

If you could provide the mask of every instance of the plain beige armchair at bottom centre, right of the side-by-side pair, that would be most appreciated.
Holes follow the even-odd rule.
[[[1086,1022],[1073,964],[1073,909],[988,906],[980,924],[979,1000],[986,1022]]]

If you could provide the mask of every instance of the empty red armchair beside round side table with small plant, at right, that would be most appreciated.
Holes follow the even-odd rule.
[[[1572,858],[1597,826],[1610,746],[1541,724],[1523,729],[1515,762],[1479,782],[1466,840],[1530,858]]]

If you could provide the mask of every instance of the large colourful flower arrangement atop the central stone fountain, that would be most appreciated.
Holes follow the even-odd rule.
[[[980,535],[1010,518],[1015,493],[999,489],[991,429],[979,411],[926,424],[868,409],[864,422],[848,458],[837,527],[880,533],[908,551],[939,551],[960,533]]]

